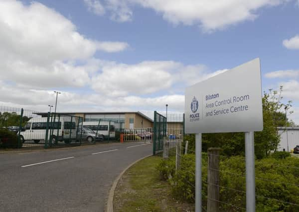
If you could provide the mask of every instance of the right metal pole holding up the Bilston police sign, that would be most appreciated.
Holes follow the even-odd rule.
[[[255,212],[254,132],[245,133],[246,212]]]

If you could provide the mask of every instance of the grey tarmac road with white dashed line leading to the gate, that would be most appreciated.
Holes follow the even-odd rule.
[[[103,212],[114,179],[151,143],[0,153],[0,212]]]

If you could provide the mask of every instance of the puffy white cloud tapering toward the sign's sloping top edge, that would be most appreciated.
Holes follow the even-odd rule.
[[[175,86],[182,88],[223,71],[210,72],[204,65],[184,66],[174,61],[106,63],[102,72],[92,78],[92,88],[108,96],[151,94]]]

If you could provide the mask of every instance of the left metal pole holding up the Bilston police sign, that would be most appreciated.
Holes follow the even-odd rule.
[[[195,212],[201,212],[201,133],[195,134]]]

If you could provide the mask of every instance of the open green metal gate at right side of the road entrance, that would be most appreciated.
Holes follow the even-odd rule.
[[[154,111],[152,154],[163,150],[163,137],[166,136],[166,117]]]

